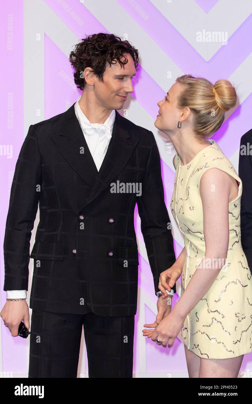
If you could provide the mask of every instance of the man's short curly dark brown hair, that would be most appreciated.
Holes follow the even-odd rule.
[[[111,64],[115,64],[117,61],[121,66],[125,65],[128,62],[127,57],[124,56],[125,53],[131,55],[136,71],[138,71],[139,51],[127,40],[123,41],[119,36],[103,32],[89,36],[86,35],[86,38],[82,39],[82,42],[75,45],[69,58],[75,70],[74,82],[77,88],[83,90],[86,84],[83,75],[86,67],[91,67],[99,80],[104,82],[103,75],[107,63],[111,66]],[[121,60],[122,57],[124,57],[124,60]]]

